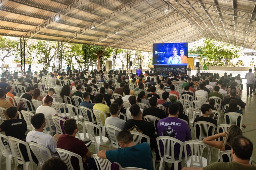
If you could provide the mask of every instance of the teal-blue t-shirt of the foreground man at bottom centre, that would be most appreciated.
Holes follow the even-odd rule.
[[[122,168],[137,167],[153,170],[152,152],[146,142],[122,149],[107,150],[106,157],[110,162],[119,163]]]

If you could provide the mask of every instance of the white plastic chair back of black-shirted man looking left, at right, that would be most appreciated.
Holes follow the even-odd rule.
[[[196,126],[199,126],[199,138],[196,137],[197,136]],[[211,135],[213,135],[214,130],[216,128],[216,126],[214,124],[209,123],[209,122],[203,122],[203,121],[195,122],[194,123],[195,139],[201,141],[202,139],[208,137],[210,128],[212,128]]]

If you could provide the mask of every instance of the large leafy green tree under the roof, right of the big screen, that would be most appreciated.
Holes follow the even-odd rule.
[[[203,50],[203,56],[208,57],[208,60],[214,61],[215,64],[220,65],[224,60],[225,65],[228,65],[230,59],[238,58],[242,55],[243,51],[241,47],[206,38],[204,40],[205,48]]]

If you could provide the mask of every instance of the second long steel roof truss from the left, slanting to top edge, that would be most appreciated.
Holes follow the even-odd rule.
[[[67,43],[67,42],[70,42],[72,40],[74,40],[76,37],[88,32],[89,30],[97,27],[98,25],[101,25],[105,22],[107,22],[108,20],[118,16],[119,14],[123,14],[124,12],[130,10],[130,9],[133,9],[135,8],[136,6],[139,6],[141,3],[143,3],[144,1],[146,0],[134,0],[133,2],[129,3],[128,5],[116,10],[115,12],[99,19],[98,21],[92,23],[91,25],[89,26],[86,26],[85,28],[75,32],[74,34],[72,34],[71,36],[68,36],[66,37],[65,39],[63,39],[61,42],[63,42],[64,44]],[[90,1],[91,2],[91,1]]]

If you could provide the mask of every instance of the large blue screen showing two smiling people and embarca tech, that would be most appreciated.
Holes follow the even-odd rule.
[[[187,64],[188,43],[153,44],[153,64]]]

